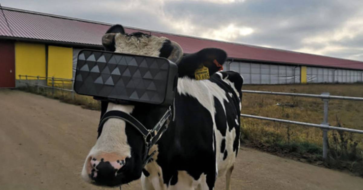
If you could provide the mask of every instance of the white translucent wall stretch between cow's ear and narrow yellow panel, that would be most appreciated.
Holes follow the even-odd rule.
[[[230,63],[230,64],[229,64]],[[276,64],[226,62],[229,70],[244,77],[244,84],[294,84],[300,83],[300,67]]]

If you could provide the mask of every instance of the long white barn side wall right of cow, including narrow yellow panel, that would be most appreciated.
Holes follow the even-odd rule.
[[[363,71],[359,70],[228,61],[225,65],[228,70],[241,73],[244,84],[363,82]]]

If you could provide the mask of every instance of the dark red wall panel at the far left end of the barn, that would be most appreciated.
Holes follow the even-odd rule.
[[[0,88],[15,87],[15,48],[13,42],[0,41]]]

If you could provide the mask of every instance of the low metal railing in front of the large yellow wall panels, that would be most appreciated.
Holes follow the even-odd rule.
[[[73,83],[74,83],[74,79],[63,79],[63,78],[57,78],[57,77],[42,77],[42,76],[30,76],[30,75],[18,75],[19,76],[19,82],[20,83],[25,83],[27,86],[36,86],[37,87],[37,92],[39,93],[39,87],[44,87],[44,88],[51,88],[52,89],[52,95],[54,95],[54,90],[64,90],[67,92],[71,92],[72,93],[72,99],[74,100],[74,90],[73,90]],[[30,81],[35,81],[35,83],[31,83]],[[46,85],[41,84],[41,81],[46,82]],[[49,83],[51,84],[51,86],[48,86]],[[66,84],[68,83],[70,85],[70,89],[66,88]],[[62,87],[62,88],[60,88]]]

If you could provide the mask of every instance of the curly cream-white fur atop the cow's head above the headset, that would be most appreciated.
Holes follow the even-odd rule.
[[[135,37],[118,33],[115,35],[115,52],[158,57],[167,39],[148,35]]]

